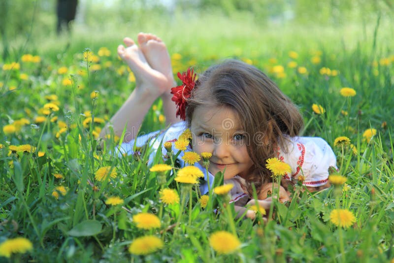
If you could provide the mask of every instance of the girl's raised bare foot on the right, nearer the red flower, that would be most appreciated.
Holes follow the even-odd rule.
[[[170,83],[169,88],[174,86],[174,77],[172,75],[171,59],[167,48],[159,37],[154,34],[138,33],[138,45],[144,54],[148,64],[163,73]]]

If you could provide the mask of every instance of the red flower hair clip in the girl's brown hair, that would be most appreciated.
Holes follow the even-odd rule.
[[[192,96],[191,93],[196,86],[196,74],[189,67],[187,72],[178,72],[178,78],[182,80],[182,85],[171,88],[171,94],[174,95],[172,101],[175,101],[177,106],[176,117],[180,116],[181,120],[186,120],[187,99]]]

